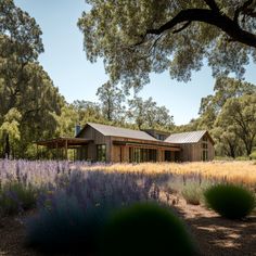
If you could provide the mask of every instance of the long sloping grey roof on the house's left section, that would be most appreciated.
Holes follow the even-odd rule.
[[[87,125],[91,126],[92,128],[101,132],[103,136],[158,141],[154,137],[150,136],[149,133],[142,130],[131,130],[131,129],[126,129],[126,128],[120,128],[120,127],[115,127],[115,126],[100,125],[95,123],[87,123]]]

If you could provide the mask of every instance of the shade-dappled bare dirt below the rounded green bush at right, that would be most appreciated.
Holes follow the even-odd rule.
[[[205,209],[202,206],[199,212]],[[178,215],[185,220],[191,233],[199,244],[200,255],[256,255],[256,216],[244,220],[230,220],[214,214],[188,217],[185,212],[176,207]]]

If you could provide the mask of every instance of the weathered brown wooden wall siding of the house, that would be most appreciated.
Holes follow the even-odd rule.
[[[184,143],[184,144],[176,144],[181,149],[180,152],[175,152],[175,148],[168,148],[164,143],[161,142],[149,142],[150,144],[144,144],[144,140],[138,139],[128,139],[128,138],[119,138],[119,137],[110,137],[103,136],[98,130],[93,129],[90,126],[87,126],[79,138],[91,139],[92,142],[88,144],[88,161],[97,161],[97,145],[105,144],[106,145],[106,162],[113,163],[128,163],[129,162],[129,148],[143,148],[143,149],[155,149],[157,150],[157,162],[165,161],[165,151],[171,151],[171,161],[178,162],[194,162],[202,161],[202,140],[197,143]],[[115,144],[114,142],[126,142],[127,144]],[[128,143],[130,142],[130,143]],[[132,144],[135,143],[135,144]],[[171,144],[169,145],[171,146]],[[214,159],[215,151],[212,139],[207,140],[208,148],[208,161]],[[177,149],[178,150],[178,149]]]

